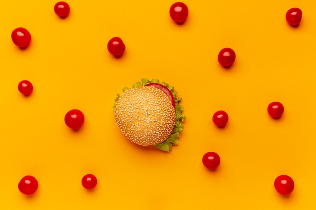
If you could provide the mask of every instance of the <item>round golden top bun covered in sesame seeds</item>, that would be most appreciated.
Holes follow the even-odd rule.
[[[139,86],[126,90],[114,107],[116,124],[131,142],[156,145],[165,141],[175,125],[175,109],[159,88]]]

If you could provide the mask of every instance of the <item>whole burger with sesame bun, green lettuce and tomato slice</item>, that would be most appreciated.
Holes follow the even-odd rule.
[[[185,115],[181,97],[168,83],[141,79],[125,87],[114,102],[116,124],[129,141],[169,152],[178,144]]]

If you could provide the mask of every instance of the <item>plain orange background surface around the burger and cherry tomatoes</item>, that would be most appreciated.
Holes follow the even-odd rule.
[[[60,19],[56,1],[6,1],[0,17],[1,209],[313,209],[316,182],[316,2],[188,1],[189,17],[177,25],[172,1],[67,1]],[[285,13],[303,11],[299,27]],[[27,28],[31,45],[11,41]],[[121,37],[124,55],[107,51]],[[230,47],[230,69],[217,61]],[[125,86],[147,77],[173,85],[183,97],[186,121],[170,153],[128,142],[112,106]],[[34,91],[17,90],[30,80]],[[279,120],[267,106],[280,101]],[[70,109],[85,114],[74,132],[64,124]],[[224,129],[212,115],[225,110]],[[221,157],[216,171],[204,153]],[[81,178],[98,179],[88,191]],[[274,179],[294,179],[280,196]],[[25,175],[39,182],[33,196],[17,188]]]

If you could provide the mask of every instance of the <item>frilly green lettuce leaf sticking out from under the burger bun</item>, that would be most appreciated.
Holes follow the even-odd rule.
[[[173,98],[175,99],[175,105],[176,105],[176,109],[175,109],[175,112],[176,112],[176,121],[175,121],[175,126],[170,134],[170,136],[164,141],[164,142],[161,142],[159,144],[156,144],[155,147],[156,148],[159,148],[163,151],[166,151],[166,152],[169,152],[171,149],[172,149],[172,146],[174,145],[178,145],[179,141],[178,141],[178,138],[180,136],[180,133],[182,132],[183,130],[183,122],[185,120],[185,114],[183,114],[183,106],[179,104],[179,102],[181,101],[181,97],[176,97],[177,95],[177,92],[174,90],[174,87],[173,86],[169,86],[168,83],[162,81],[160,82],[158,79],[152,79],[152,80],[149,80],[147,78],[142,78],[141,81],[139,82],[136,82],[132,85],[132,88],[133,87],[137,87],[137,86],[143,86],[143,85],[147,85],[149,83],[160,83],[164,86],[166,86],[172,93],[173,95]],[[123,92],[128,90],[129,87],[124,87],[123,88]],[[114,107],[115,107],[115,104],[116,102],[118,101],[120,97],[120,94],[117,94],[117,97],[114,101],[114,106],[112,108],[112,110],[114,110]]]

